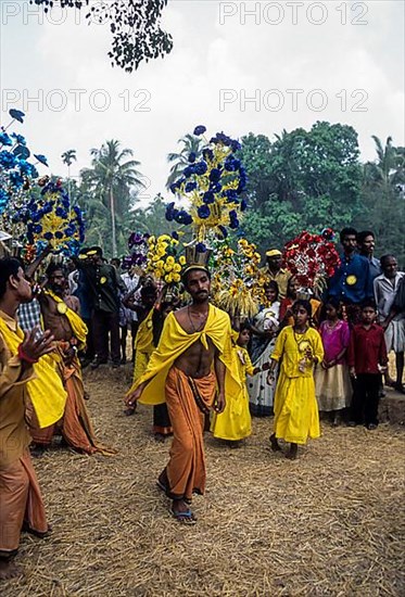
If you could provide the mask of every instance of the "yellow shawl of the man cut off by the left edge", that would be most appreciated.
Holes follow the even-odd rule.
[[[10,353],[15,356],[20,344],[24,341],[23,330],[16,325],[13,331],[0,317],[0,333]],[[65,410],[67,394],[56,372],[56,366],[58,360],[52,353],[42,356],[38,363],[34,364],[37,378],[27,382],[27,391],[40,428],[59,421]]]

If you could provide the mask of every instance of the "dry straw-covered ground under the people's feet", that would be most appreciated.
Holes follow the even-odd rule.
[[[269,420],[240,449],[206,437],[207,493],[185,528],[154,484],[168,445],[151,439],[150,409],[122,414],[129,374],[86,374],[115,457],[36,460],[53,534],[23,536],[25,575],[3,597],[405,594],[402,428],[324,425],[295,462],[268,449]]]

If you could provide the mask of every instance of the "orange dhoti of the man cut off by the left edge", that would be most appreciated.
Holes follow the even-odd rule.
[[[23,526],[37,535],[48,531],[41,492],[29,452],[0,470],[0,557],[14,556]]]

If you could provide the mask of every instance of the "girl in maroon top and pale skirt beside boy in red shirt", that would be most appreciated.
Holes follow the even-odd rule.
[[[320,323],[325,357],[316,368],[315,388],[319,411],[330,412],[332,424],[340,421],[343,408],[351,404],[352,385],[345,354],[350,342],[350,329],[342,321],[339,301],[329,298],[326,304],[326,320]]]

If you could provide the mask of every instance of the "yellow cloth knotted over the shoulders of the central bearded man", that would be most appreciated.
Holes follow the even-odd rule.
[[[152,353],[148,368],[129,390],[132,392],[143,381],[149,381],[139,402],[142,404],[163,404],[165,402],[165,383],[168,371],[175,360],[194,342],[201,342],[208,350],[207,338],[218,350],[219,358],[226,367],[225,393],[232,396],[240,392],[238,368],[232,358],[231,328],[229,316],[222,309],[210,305],[205,327],[200,332],[187,333],[178,323],[175,314],[170,313],[163,327],[157,348]]]

